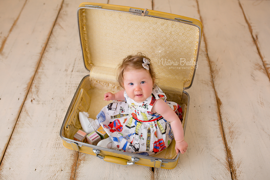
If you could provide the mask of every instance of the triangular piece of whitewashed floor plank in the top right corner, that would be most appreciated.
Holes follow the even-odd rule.
[[[240,0],[240,4],[267,70],[268,77],[270,77],[270,21],[268,20],[270,16],[268,11],[270,1]]]

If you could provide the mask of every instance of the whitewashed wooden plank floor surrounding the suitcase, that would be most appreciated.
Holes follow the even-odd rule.
[[[199,19],[203,37],[173,170],[122,167],[64,148],[80,80],[79,0],[0,1],[0,179],[269,179],[270,1],[100,0]]]

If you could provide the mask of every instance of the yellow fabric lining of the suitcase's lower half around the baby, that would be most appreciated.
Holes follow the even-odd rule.
[[[76,97],[73,101],[72,108],[68,112],[68,117],[64,124],[64,130],[62,131],[62,136],[70,140],[73,140],[73,135],[79,130],[82,129],[78,114],[79,112],[85,111],[89,113],[89,117],[96,119],[96,116],[100,110],[108,105],[110,101],[104,101],[104,94],[107,91],[110,91],[112,87],[118,87],[115,82],[106,82],[100,84],[99,82],[93,83],[93,79],[90,80],[90,76],[83,79],[79,91],[76,94]],[[116,88],[118,91],[118,88]],[[187,110],[187,101],[188,97],[186,94],[181,95],[180,93],[164,91],[167,95],[168,101],[174,101],[178,103],[183,108],[183,122],[185,121],[186,110]],[[183,124],[184,127],[184,124]],[[173,140],[170,143],[170,146],[163,150],[158,155],[155,155],[157,158],[165,159],[174,159],[176,157],[176,152],[174,150],[175,141]]]

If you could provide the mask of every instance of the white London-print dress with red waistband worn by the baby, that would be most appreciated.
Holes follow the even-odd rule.
[[[182,108],[166,101],[164,92],[155,85],[152,94],[137,103],[124,93],[126,101],[114,101],[105,106],[97,119],[115,144],[113,149],[141,155],[154,155],[167,148],[173,140],[170,122],[158,113],[152,113],[155,101],[162,98],[182,121]]]

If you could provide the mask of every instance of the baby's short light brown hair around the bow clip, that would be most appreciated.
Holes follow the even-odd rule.
[[[118,76],[117,76],[117,80],[119,82],[119,85],[124,88],[124,73],[126,70],[139,70],[139,69],[145,69],[143,67],[143,58],[146,58],[150,64],[148,64],[149,66],[149,74],[150,77],[153,81],[153,83],[155,82],[156,79],[156,73],[153,69],[153,65],[151,63],[151,60],[146,57],[143,53],[138,52],[137,55],[128,55],[127,57],[125,57],[123,59],[123,61],[119,64],[119,69],[118,69]],[[145,69],[146,70],[146,69]]]

